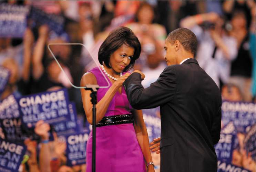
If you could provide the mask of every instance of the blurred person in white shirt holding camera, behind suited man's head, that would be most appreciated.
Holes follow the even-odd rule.
[[[199,24],[203,24],[200,27]],[[196,59],[219,88],[229,81],[231,62],[237,55],[235,38],[225,31],[225,21],[214,12],[188,16],[180,23],[191,29],[199,41]]]

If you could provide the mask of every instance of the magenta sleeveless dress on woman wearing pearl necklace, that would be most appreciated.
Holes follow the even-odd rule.
[[[107,85],[98,67],[92,72],[99,86]],[[123,73],[125,74],[125,73]],[[109,79],[108,77],[106,77]],[[110,80],[109,80],[110,82]],[[112,83],[110,82],[110,87]],[[99,89],[99,102],[109,88]],[[131,114],[130,105],[124,88],[118,91],[110,102],[105,116]],[[92,131],[86,145],[86,172],[92,171]],[[96,172],[145,172],[141,147],[136,138],[133,124],[118,124],[96,127]]]

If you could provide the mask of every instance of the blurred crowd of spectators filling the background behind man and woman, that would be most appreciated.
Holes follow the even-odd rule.
[[[133,70],[145,74],[145,88],[166,67],[167,34],[185,27],[195,33],[195,59],[215,81],[222,99],[255,103],[255,1],[2,1],[0,5],[3,3],[32,6],[61,16],[65,22],[62,33],[54,32],[47,23],[28,24],[22,38],[0,38],[0,66],[11,73],[0,100],[10,94],[19,98],[65,87],[85,121],[80,90],[71,87],[69,80],[80,86],[83,74],[98,65],[98,51],[107,35],[118,26],[126,26],[141,43],[141,55]],[[49,44],[53,44],[50,49],[69,80],[54,60]],[[42,140],[48,140],[49,130],[43,121],[35,127]],[[31,158],[22,171],[86,169],[86,165],[65,165],[66,145],[56,135],[53,142],[41,143],[40,151],[33,140],[25,140],[25,145]]]

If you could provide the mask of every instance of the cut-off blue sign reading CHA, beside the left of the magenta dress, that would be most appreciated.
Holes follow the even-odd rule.
[[[66,164],[68,166],[86,163],[86,143],[88,138],[89,134],[85,132],[66,136]]]

